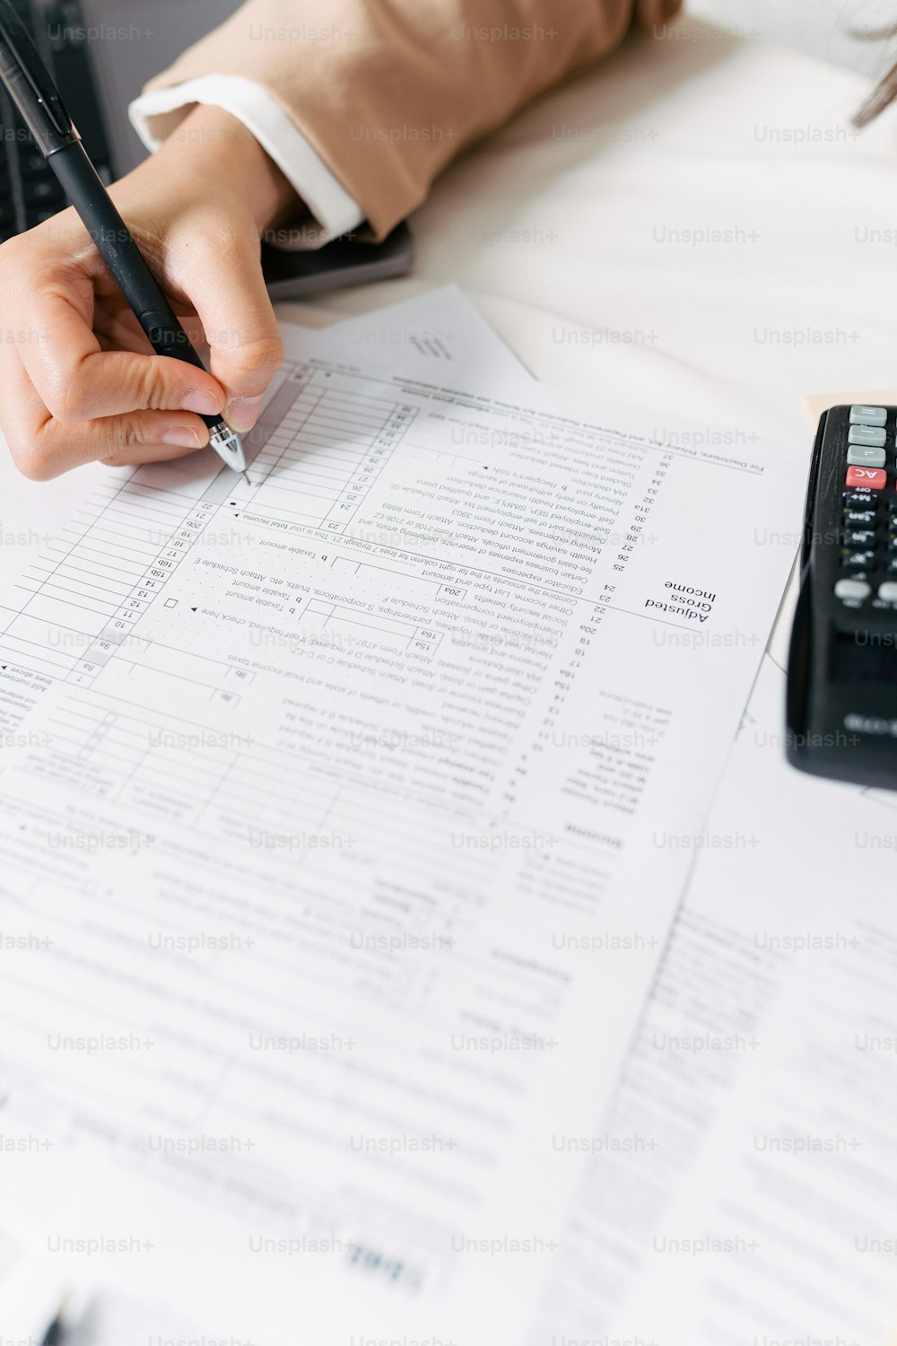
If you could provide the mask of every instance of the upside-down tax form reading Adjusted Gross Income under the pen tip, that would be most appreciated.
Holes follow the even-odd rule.
[[[208,1338],[514,1343],[804,455],[363,330],[0,592],[3,1206]]]

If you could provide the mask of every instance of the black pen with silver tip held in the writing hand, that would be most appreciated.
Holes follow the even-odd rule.
[[[157,355],[169,355],[204,369],[91,164],[50,71],[9,0],[0,0],[0,79],[81,215],[152,349]],[[242,472],[249,485],[239,436],[221,416],[202,419],[208,425],[211,447],[227,467]]]

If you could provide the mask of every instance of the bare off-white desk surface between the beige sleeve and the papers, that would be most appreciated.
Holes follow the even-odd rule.
[[[413,219],[414,275],[321,306],[456,281],[538,378],[746,433],[806,440],[804,393],[893,384],[897,113],[854,132],[858,75],[685,32],[465,155]],[[671,240],[702,229],[732,241]]]

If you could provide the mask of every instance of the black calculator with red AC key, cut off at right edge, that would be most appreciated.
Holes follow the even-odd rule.
[[[897,406],[832,406],[819,421],[785,752],[802,771],[897,789]]]

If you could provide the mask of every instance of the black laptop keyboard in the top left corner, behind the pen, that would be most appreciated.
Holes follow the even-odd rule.
[[[40,55],[56,81],[62,101],[81,132],[85,149],[104,182],[112,182],[109,144],[102,128],[97,87],[87,58],[86,31],[78,0],[39,4],[12,0]],[[0,242],[32,229],[66,206],[52,168],[0,89]]]

